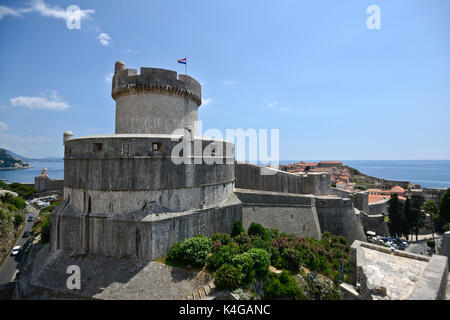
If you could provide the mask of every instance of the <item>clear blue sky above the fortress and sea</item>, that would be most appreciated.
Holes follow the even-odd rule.
[[[449,17],[448,0],[0,0],[0,147],[113,133],[115,61],[184,73],[187,56],[204,129],[280,129],[282,160],[450,159]]]

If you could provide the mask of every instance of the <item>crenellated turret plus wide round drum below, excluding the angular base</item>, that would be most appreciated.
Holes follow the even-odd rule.
[[[156,68],[141,68],[137,75],[118,61],[112,97],[116,134],[64,135],[64,194],[73,208],[85,214],[129,215],[152,204],[181,212],[227,199],[233,191],[234,145],[195,137],[192,131],[173,134],[195,127],[201,102],[195,79]],[[180,143],[191,145],[191,154],[181,155],[190,163],[173,161],[172,151]],[[210,156],[222,150],[220,161],[198,162],[205,150],[214,150]]]

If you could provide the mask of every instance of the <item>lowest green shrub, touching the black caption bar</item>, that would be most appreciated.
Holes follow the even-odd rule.
[[[283,271],[280,275],[271,273],[264,283],[265,299],[305,299],[294,277]]]

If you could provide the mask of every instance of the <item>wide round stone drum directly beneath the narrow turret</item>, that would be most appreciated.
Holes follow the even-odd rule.
[[[178,138],[161,135],[70,139],[65,148],[64,199],[82,213],[119,214],[152,202],[169,211],[186,211],[225,201],[233,191],[234,155],[191,157],[191,164],[176,164],[171,152],[179,143]],[[190,144],[192,150],[198,145],[202,154],[211,146],[234,150],[232,144],[217,140],[195,139]]]

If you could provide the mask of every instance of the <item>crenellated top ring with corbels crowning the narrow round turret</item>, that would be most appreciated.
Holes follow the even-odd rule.
[[[171,94],[186,96],[199,106],[202,101],[202,88],[194,78],[177,72],[159,68],[141,68],[138,75],[136,69],[125,69],[120,61],[116,62],[116,70],[112,81],[111,96],[117,101],[128,94]]]

